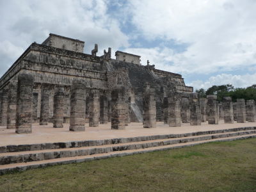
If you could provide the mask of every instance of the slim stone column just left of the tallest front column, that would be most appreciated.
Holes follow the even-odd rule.
[[[15,129],[17,107],[17,81],[10,81],[7,106],[7,129]]]

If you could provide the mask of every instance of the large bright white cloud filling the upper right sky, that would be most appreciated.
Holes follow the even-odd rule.
[[[132,1],[130,10],[132,22],[148,40],[189,45],[179,53],[152,48],[163,55],[161,65],[173,61],[172,72],[211,74],[256,64],[256,1],[144,0]],[[146,57],[152,49],[144,51]]]

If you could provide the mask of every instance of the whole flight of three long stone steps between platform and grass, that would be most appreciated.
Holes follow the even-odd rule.
[[[256,127],[106,140],[7,145],[0,147],[0,175],[54,164],[79,163],[244,138],[256,138]]]

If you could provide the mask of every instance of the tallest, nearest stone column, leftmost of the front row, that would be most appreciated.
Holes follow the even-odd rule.
[[[15,131],[17,133],[32,132],[33,83],[34,77],[31,74],[19,74]]]

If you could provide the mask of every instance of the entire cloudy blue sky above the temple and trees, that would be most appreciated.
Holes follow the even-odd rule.
[[[256,84],[255,0],[0,1],[0,75],[49,33],[141,56],[194,88]]]

